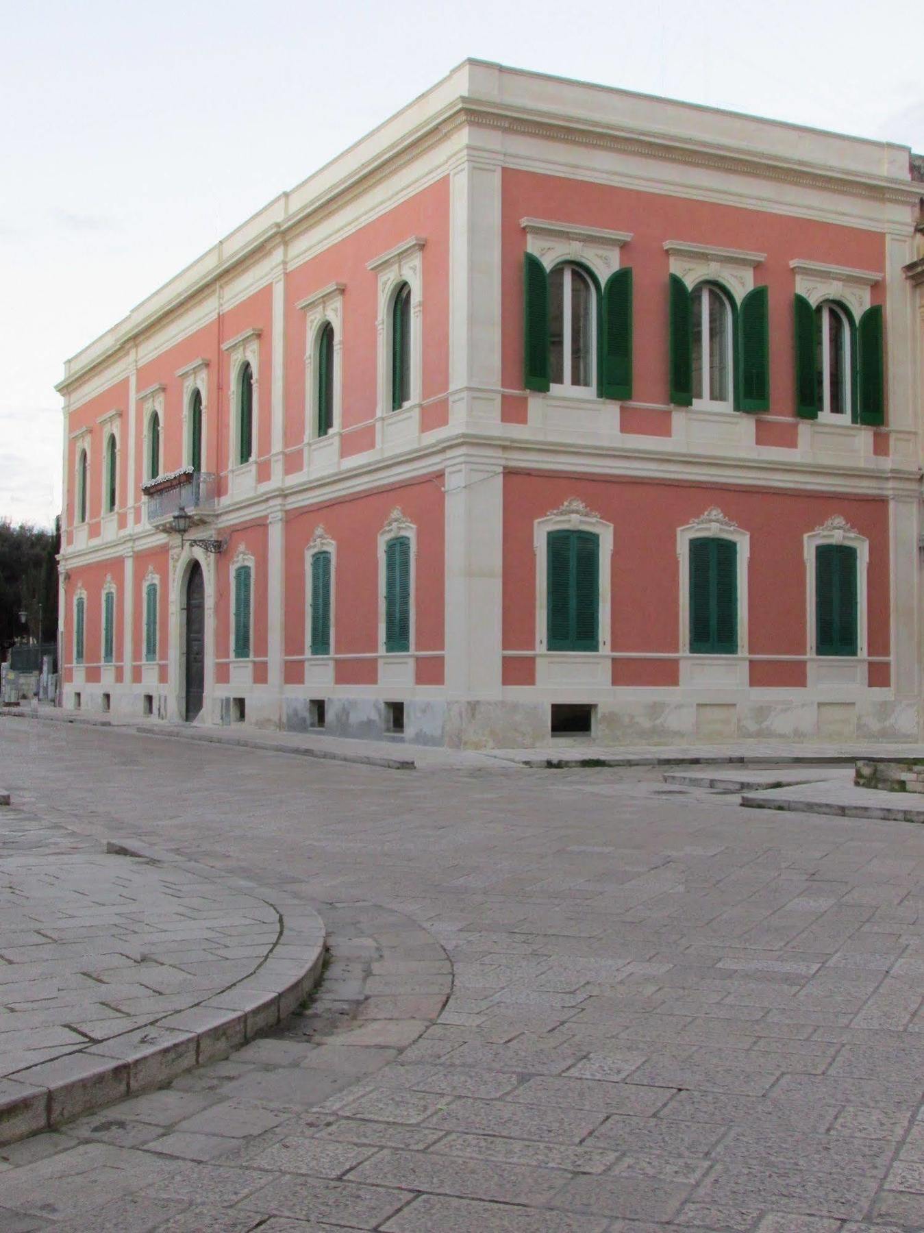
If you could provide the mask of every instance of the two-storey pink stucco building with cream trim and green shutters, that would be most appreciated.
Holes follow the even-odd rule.
[[[65,707],[917,739],[923,187],[461,64],[67,363]]]

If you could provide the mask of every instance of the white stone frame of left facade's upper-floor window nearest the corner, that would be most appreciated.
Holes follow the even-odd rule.
[[[376,417],[400,416],[416,411],[419,414],[423,397],[423,248],[426,238],[411,236],[403,243],[369,261],[366,269],[377,277],[377,366],[376,366]],[[391,408],[391,344],[392,308],[402,282],[411,289],[411,396],[392,411]]]

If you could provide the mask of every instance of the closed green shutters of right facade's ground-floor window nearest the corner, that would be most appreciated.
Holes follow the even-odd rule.
[[[549,650],[600,650],[598,535],[549,533],[547,592]]]

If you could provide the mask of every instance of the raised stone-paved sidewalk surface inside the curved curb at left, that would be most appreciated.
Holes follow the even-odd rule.
[[[0,1079],[197,1005],[279,937],[254,895],[15,809],[0,824]]]

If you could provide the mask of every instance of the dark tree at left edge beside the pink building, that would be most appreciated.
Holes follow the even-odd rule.
[[[17,639],[53,642],[58,629],[60,519],[53,531],[0,519],[0,658]],[[38,629],[38,613],[42,629]],[[20,620],[26,613],[26,623]]]

